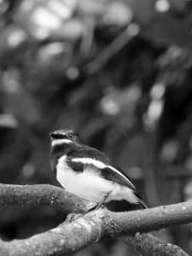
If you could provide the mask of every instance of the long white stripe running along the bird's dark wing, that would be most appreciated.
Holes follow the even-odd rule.
[[[113,166],[108,166],[108,165],[105,165],[102,161],[100,160],[95,160],[95,159],[92,159],[92,158],[74,158],[72,160],[73,162],[81,162],[82,164],[84,165],[92,165],[92,166],[96,166],[96,168],[98,169],[105,169],[105,168],[109,168],[112,170],[112,172],[116,172],[120,177],[123,177],[127,183],[130,184],[130,186],[132,188],[135,189],[135,186],[133,183],[131,183],[131,181],[125,177],[125,175],[121,172],[119,172],[119,170],[117,170],[116,168],[114,168]]]

